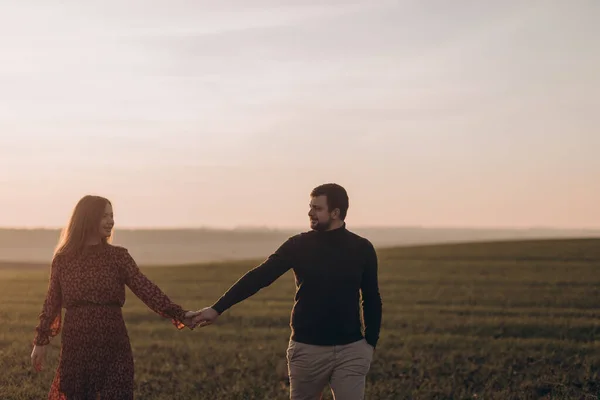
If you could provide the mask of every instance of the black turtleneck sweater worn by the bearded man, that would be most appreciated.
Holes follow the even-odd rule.
[[[376,347],[382,310],[377,255],[367,239],[350,232],[345,225],[289,238],[265,262],[240,278],[212,308],[223,313],[269,286],[290,268],[296,278],[292,340],[343,345],[364,337]]]

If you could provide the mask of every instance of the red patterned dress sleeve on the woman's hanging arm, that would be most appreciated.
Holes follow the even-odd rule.
[[[39,323],[35,328],[36,335],[33,344],[45,346],[50,343],[50,338],[58,335],[61,328],[62,291],[60,287],[58,257],[52,260],[50,269],[50,282],[46,293],[46,300],[39,315]]]

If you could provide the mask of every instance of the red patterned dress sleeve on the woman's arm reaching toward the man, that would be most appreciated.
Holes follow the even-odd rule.
[[[185,319],[186,310],[173,303],[154,282],[140,271],[137,263],[127,249],[123,249],[123,254],[120,258],[123,280],[133,294],[158,315],[170,318],[177,329],[183,329],[185,325],[182,321]]]

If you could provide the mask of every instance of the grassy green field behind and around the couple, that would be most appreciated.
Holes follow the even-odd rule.
[[[381,340],[367,399],[600,398],[600,240],[379,250]],[[144,268],[176,302],[210,305],[256,262]],[[47,270],[0,270],[0,399],[43,399],[59,340],[29,365]],[[287,273],[217,324],[177,331],[128,292],[139,399],[286,399]],[[331,395],[326,392],[325,398]]]

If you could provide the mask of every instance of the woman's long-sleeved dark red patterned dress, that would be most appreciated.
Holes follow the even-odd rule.
[[[125,285],[178,329],[184,327],[186,311],[141,273],[127,249],[100,244],[76,256],[54,258],[33,341],[48,344],[62,325],[49,400],[133,399],[133,355],[121,312]]]

